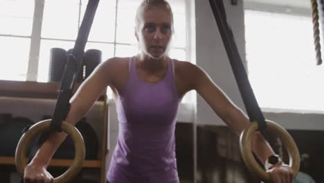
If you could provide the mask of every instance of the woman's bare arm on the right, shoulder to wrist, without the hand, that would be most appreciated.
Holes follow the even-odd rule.
[[[195,76],[192,78],[194,89],[235,133],[240,134],[250,125],[248,117],[217,87],[205,71],[195,65],[191,67],[195,73],[192,74]],[[274,154],[260,132],[255,132],[251,139],[251,148],[263,163]]]

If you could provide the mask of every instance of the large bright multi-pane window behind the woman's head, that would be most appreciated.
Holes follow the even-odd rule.
[[[73,48],[87,0],[0,0],[0,80],[48,82],[50,49]],[[102,61],[137,52],[134,16],[141,1],[102,0],[85,50],[99,49]],[[170,56],[192,60],[188,51],[189,6],[169,1],[174,12]],[[190,96],[192,98],[192,96]],[[191,99],[183,98],[183,101]]]

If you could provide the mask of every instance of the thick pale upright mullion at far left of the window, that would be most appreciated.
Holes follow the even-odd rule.
[[[33,29],[31,33],[31,39],[30,39],[30,51],[29,51],[28,70],[27,70],[27,78],[26,78],[26,80],[30,80],[30,81],[37,80],[43,12],[44,12],[44,0],[35,1]]]

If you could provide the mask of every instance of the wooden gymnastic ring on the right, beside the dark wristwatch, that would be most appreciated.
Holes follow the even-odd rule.
[[[294,177],[299,171],[299,151],[294,139],[280,125],[273,121],[266,120],[267,132],[271,132],[280,138],[283,146],[286,147],[289,155],[289,167],[294,171]],[[251,173],[255,173],[264,182],[272,182],[271,177],[255,161],[251,150],[251,135],[258,130],[258,123],[252,122],[240,135],[240,150],[244,163]]]

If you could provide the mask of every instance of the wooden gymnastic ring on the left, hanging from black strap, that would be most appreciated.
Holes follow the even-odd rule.
[[[25,132],[16,148],[15,153],[15,164],[17,168],[17,172],[21,177],[24,177],[24,169],[28,163],[28,159],[26,158],[26,152],[30,143],[33,142],[37,135],[41,134],[42,132],[46,132],[50,130],[50,123],[51,119],[39,121],[32,125],[27,132]],[[85,155],[85,148],[84,148],[84,141],[82,135],[73,125],[67,123],[66,121],[62,122],[62,130],[71,136],[74,142],[75,148],[75,157],[74,161],[71,166],[66,170],[65,173],[60,175],[59,177],[55,177],[53,183],[64,183],[64,182],[71,182],[71,179],[78,175],[80,169],[82,168],[82,164],[84,162],[84,155]]]

